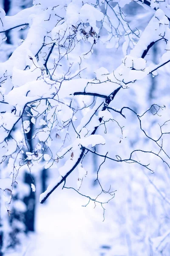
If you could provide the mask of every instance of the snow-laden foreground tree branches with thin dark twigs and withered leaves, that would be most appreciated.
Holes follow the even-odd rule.
[[[33,7],[14,16],[8,17],[0,11],[2,37],[3,33],[4,38],[8,36],[7,32],[13,29],[18,33],[21,28],[27,26],[28,29],[22,43],[7,61],[0,63],[0,163],[10,163],[12,184],[22,168],[27,168],[30,174],[36,165],[42,169],[58,169],[59,177],[40,195],[40,203],[61,183],[64,183],[63,188],[66,187],[67,177],[85,163],[87,154],[104,158],[99,169],[109,159],[116,163],[135,163],[153,173],[149,163],[134,157],[142,153],[154,155],[168,168],[170,166],[161,141],[169,134],[164,131],[169,120],[161,123],[156,138],[146,131],[142,121],[153,110],[153,116],[159,116],[164,106],[152,104],[149,110],[139,115],[136,110],[139,102],[134,96],[136,108],[129,107],[131,96],[128,94],[129,88],[132,95],[140,94],[140,90],[136,93],[140,81],[146,81],[168,67],[169,16],[164,11],[165,4],[162,8],[160,3],[159,7],[150,4],[152,17],[148,23],[144,20],[145,28],[141,31],[127,22],[121,9],[130,1],[118,2],[113,5],[107,0],[97,3],[93,0],[86,3],[67,1],[66,5],[63,1],[56,5],[53,0],[49,3],[36,0]],[[146,1],[144,4],[148,5]],[[5,39],[1,43],[3,46]],[[159,43],[164,47],[159,61],[153,63],[150,52]],[[117,49],[118,53],[111,48]],[[108,55],[109,51],[116,57]],[[135,116],[142,136],[159,151],[132,150],[129,146],[130,157],[118,153],[110,157],[108,151],[105,154],[96,151],[96,145],[105,148],[108,123],[116,124],[112,136],[116,136],[116,129],[119,129],[120,143],[126,138],[122,122],[133,122],[126,111]],[[34,145],[32,148],[30,140]],[[113,196],[110,189],[102,188],[99,169],[96,180],[101,193]]]

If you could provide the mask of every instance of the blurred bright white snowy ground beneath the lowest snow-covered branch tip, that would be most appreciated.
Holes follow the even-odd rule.
[[[102,209],[74,191],[58,189],[47,204],[38,204],[36,233],[23,239],[22,249],[6,256],[100,256],[108,251],[108,221]],[[106,249],[101,249],[102,245]]]

